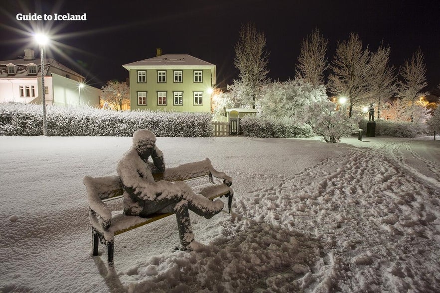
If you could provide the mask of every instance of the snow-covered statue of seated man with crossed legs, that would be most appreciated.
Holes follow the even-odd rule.
[[[179,230],[180,249],[191,250],[194,234],[188,209],[209,219],[219,213],[224,204],[219,199],[211,201],[203,195],[195,194],[186,183],[181,181],[155,182],[152,174],[165,171],[163,154],[155,142],[156,137],[151,131],[146,129],[136,131],[133,134],[131,149],[117,163],[116,170],[125,190],[124,213],[146,217],[152,213],[174,212]],[[149,157],[152,162],[148,160]],[[170,171],[172,173],[173,170]]]

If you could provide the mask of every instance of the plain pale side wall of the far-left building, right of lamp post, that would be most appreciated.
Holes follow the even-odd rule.
[[[46,81],[47,78],[44,80]],[[53,95],[55,97],[53,104],[56,106],[81,106],[89,105],[99,107],[100,96],[102,91],[85,85],[83,89],[79,89],[79,82],[65,78],[63,76],[52,73]]]

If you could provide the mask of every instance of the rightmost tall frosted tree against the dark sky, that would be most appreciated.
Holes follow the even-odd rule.
[[[406,106],[411,122],[417,123],[420,120],[421,98],[429,95],[423,91],[428,84],[423,52],[420,48],[411,59],[405,60],[399,74],[402,79],[398,82],[397,95]]]

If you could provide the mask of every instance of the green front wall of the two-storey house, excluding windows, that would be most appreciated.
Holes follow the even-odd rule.
[[[138,83],[138,71],[143,69],[130,70],[130,97],[131,109],[160,110],[176,112],[210,112],[211,94],[208,89],[211,85],[211,70],[209,69],[160,69],[166,70],[166,83],[157,83],[157,70],[147,69],[147,82]],[[182,71],[182,83],[174,83],[174,70]],[[194,83],[194,70],[203,71],[202,83]],[[147,105],[138,104],[138,92],[147,92]],[[157,92],[166,92],[166,105],[157,104]],[[183,104],[173,104],[173,92],[183,92]],[[194,105],[193,92],[203,92],[203,104]]]

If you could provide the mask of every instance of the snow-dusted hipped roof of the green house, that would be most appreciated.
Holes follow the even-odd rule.
[[[128,69],[127,67],[161,67],[161,66],[215,66],[214,64],[211,64],[209,62],[203,61],[201,59],[195,58],[188,54],[166,54],[166,55],[160,55],[153,58],[148,58],[141,61],[136,61],[133,63],[125,64],[123,65],[124,68]]]

